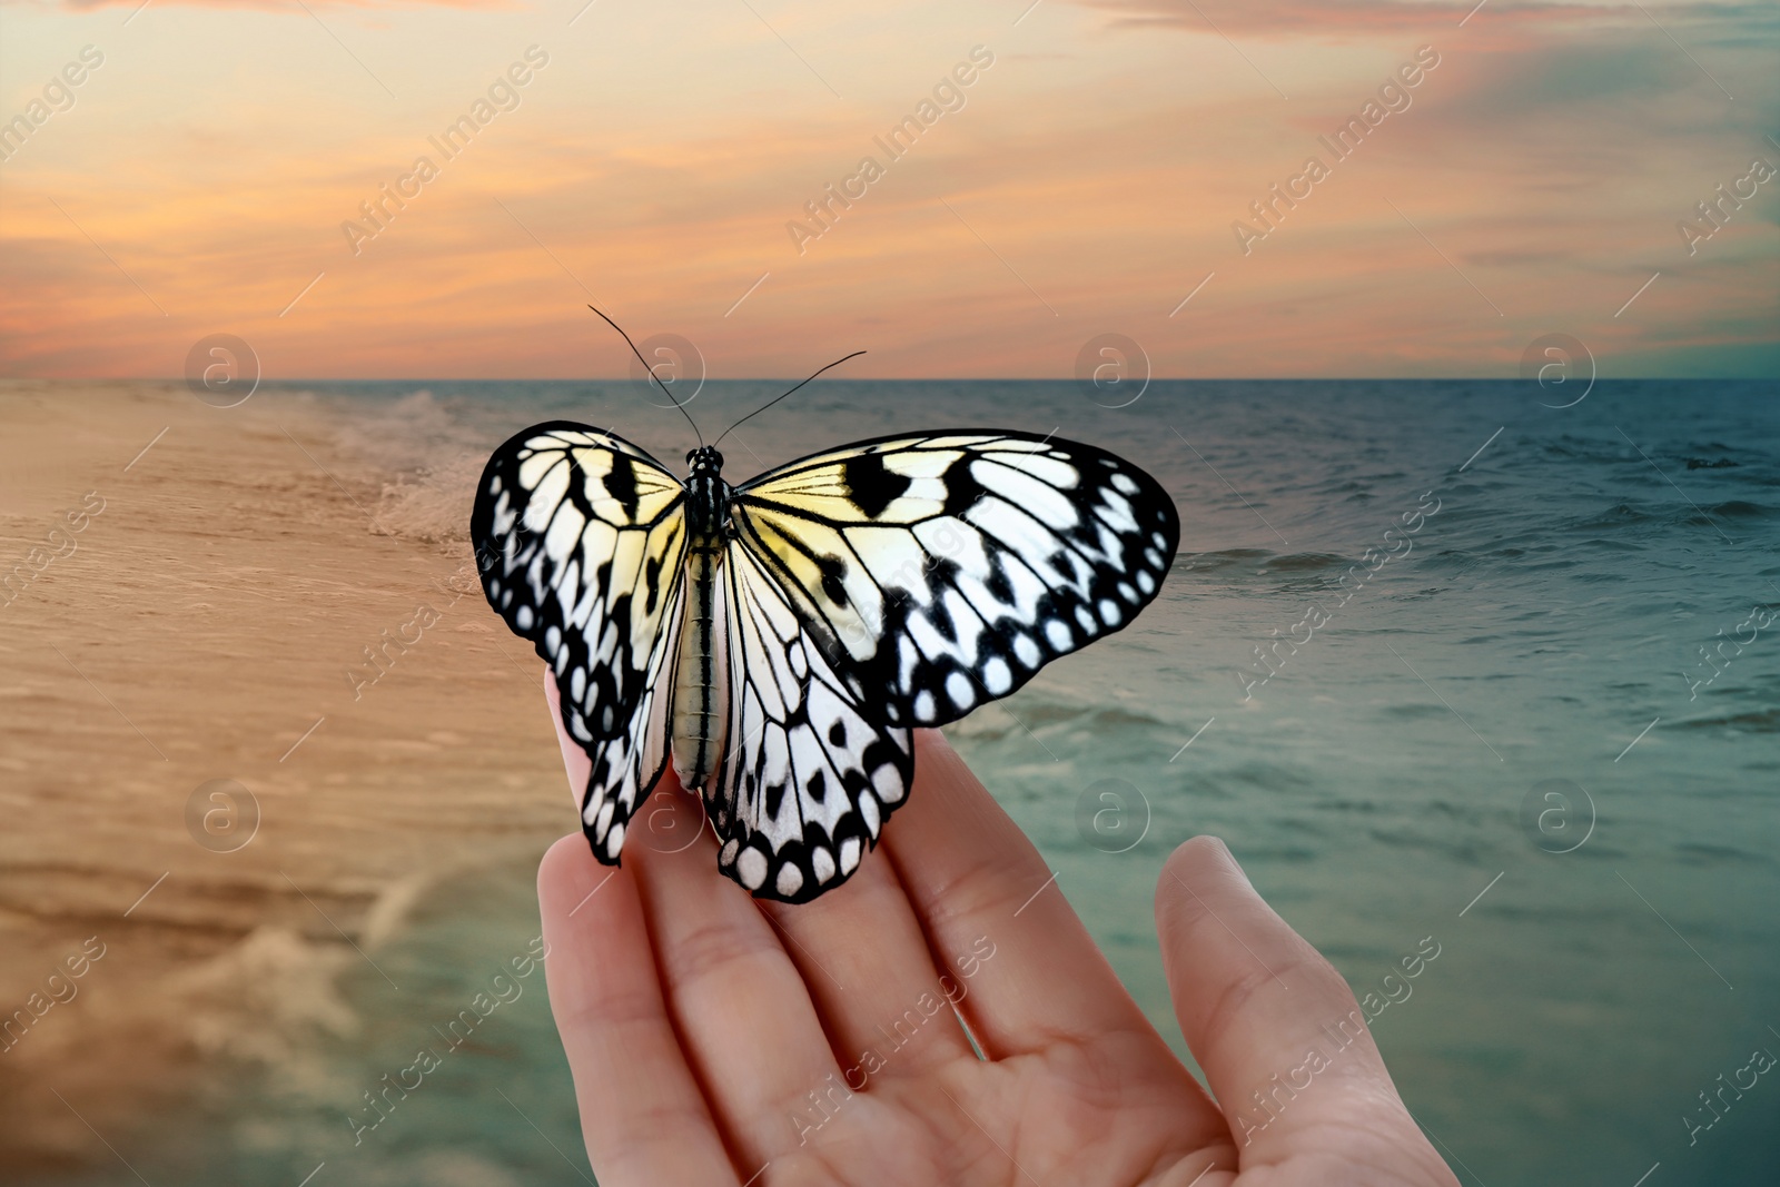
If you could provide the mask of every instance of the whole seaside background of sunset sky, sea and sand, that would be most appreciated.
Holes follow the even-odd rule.
[[[1467,1185],[1773,1182],[1775,46],[0,5],[0,1178],[591,1182],[514,972],[575,812],[466,523],[536,420],[691,445],[593,301],[707,429],[869,351],[732,480],[993,424],[1177,497],[1159,602],[949,730],[1177,1048],[1150,900],[1209,831]]]

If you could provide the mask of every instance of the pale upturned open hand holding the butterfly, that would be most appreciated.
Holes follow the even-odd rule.
[[[545,685],[578,790],[587,756]],[[1358,1007],[1223,842],[1180,845],[1155,892],[1207,1093],[945,739],[917,731],[915,755],[878,849],[803,906],[756,902],[717,872],[671,771],[623,867],[580,833],[545,854],[550,1007],[602,1187],[1456,1187],[1371,1034],[1294,1075],[1312,1048],[1335,1052],[1323,1027]],[[886,1030],[911,1013],[895,1046]],[[1273,1077],[1310,1084],[1276,1093],[1266,1128],[1242,1126],[1269,1116],[1251,1093]]]

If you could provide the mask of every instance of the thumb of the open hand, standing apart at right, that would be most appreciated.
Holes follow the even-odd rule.
[[[1175,1016],[1230,1121],[1242,1164],[1276,1162],[1355,1126],[1356,1100],[1426,1146],[1385,1071],[1347,982],[1244,877],[1212,836],[1180,845],[1155,888]],[[1442,1180],[1445,1182],[1445,1180]]]

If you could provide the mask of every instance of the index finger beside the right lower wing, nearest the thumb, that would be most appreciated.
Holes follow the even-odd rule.
[[[938,730],[915,731],[915,788],[883,836],[936,963],[967,982],[959,1009],[991,1059],[1153,1034],[1032,842]]]

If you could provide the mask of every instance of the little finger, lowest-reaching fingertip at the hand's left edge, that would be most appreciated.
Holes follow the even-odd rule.
[[[538,868],[545,979],[587,1159],[605,1187],[737,1183],[650,956],[635,879],[570,835]]]

